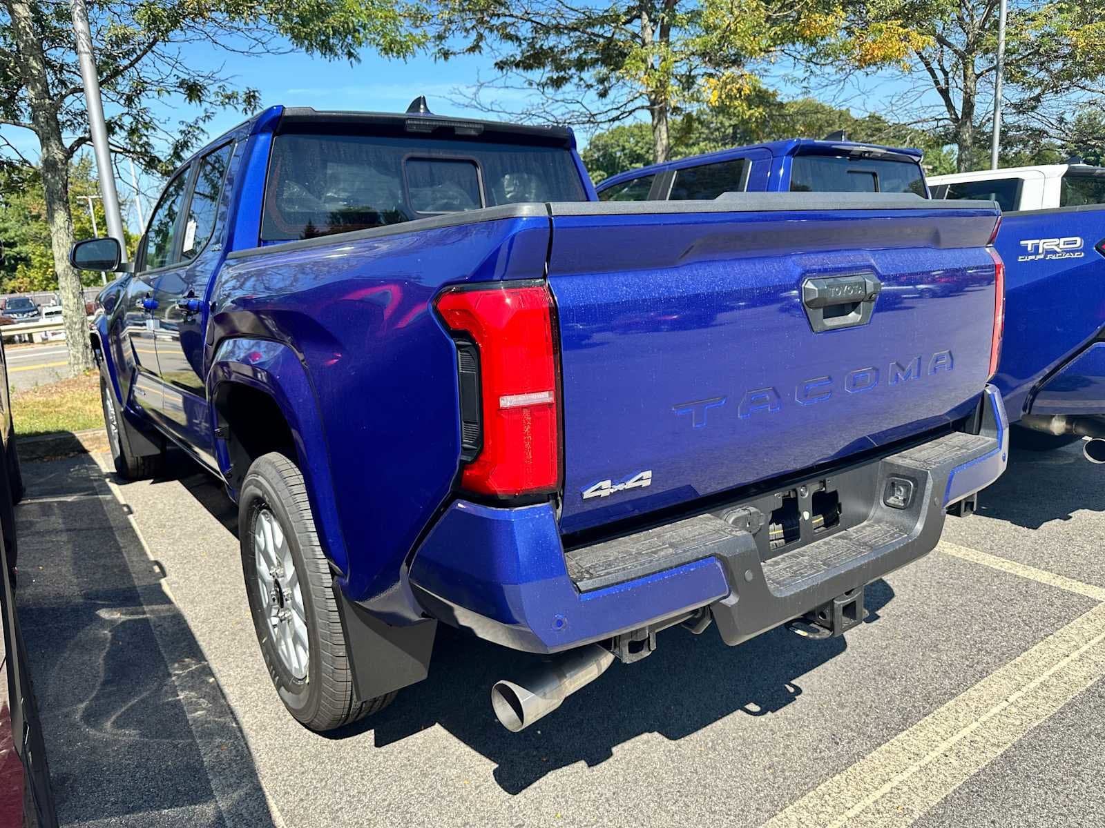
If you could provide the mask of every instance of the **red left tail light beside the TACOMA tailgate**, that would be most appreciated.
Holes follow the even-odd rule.
[[[457,344],[467,461],[461,485],[496,497],[556,491],[559,390],[548,287],[459,288],[436,307]]]

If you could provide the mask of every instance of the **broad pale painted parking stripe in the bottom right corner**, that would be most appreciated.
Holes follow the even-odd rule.
[[[907,826],[1105,678],[1105,604],[822,783],[765,828]]]

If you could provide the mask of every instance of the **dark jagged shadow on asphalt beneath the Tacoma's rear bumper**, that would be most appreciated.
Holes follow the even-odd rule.
[[[885,581],[867,588],[867,622],[894,596]],[[533,658],[439,625],[430,677],[399,693],[392,705],[336,732],[348,737],[372,729],[383,746],[440,724],[494,762],[496,783],[518,794],[559,767],[610,758],[636,736],[680,740],[734,713],[769,715],[802,694],[798,678],[846,649],[843,638],[809,641],[777,628],[739,647],[716,630],[694,636],[661,633],[656,651],[633,665],[615,662],[552,715],[520,733],[506,731],[491,710],[491,687],[516,676]]]

